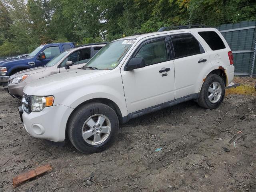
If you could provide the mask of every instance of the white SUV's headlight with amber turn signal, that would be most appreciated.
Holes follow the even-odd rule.
[[[53,105],[54,96],[40,97],[31,96],[30,97],[30,109],[31,111],[38,112],[42,111],[45,107]]]

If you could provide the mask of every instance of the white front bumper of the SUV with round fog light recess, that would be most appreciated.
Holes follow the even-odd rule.
[[[73,111],[64,105],[46,107],[40,112],[28,114],[23,106],[22,119],[26,131],[35,138],[46,139],[54,142],[65,140],[66,124]]]

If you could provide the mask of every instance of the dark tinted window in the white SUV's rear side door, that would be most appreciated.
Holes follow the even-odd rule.
[[[204,53],[204,49],[190,33],[171,35],[175,58]]]

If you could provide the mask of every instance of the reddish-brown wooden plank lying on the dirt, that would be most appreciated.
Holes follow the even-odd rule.
[[[52,170],[52,166],[50,166],[50,164],[47,164],[41,167],[37,167],[29,172],[19,174],[18,176],[12,178],[12,185],[15,188],[23,182],[39,176],[45,172],[48,172],[49,170]]]

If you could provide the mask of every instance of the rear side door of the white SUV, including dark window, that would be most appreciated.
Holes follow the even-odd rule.
[[[175,98],[198,93],[205,72],[212,68],[210,57],[190,32],[169,33],[175,68]]]

